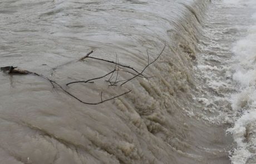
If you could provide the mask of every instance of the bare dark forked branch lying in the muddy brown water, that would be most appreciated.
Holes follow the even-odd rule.
[[[142,71],[137,71],[137,69],[135,69],[135,68],[133,68],[131,66],[127,66],[125,64],[120,63],[119,62],[119,58],[117,57],[117,55],[116,55],[115,61],[110,61],[110,60],[107,60],[107,59],[92,57],[92,56],[90,56],[90,54],[92,54],[93,51],[90,51],[89,53],[86,54],[86,56],[80,58],[78,61],[84,61],[85,59],[95,59],[95,60],[98,60],[98,61],[103,61],[103,62],[114,64],[114,69],[112,71],[110,71],[110,72],[100,76],[100,77],[91,78],[91,79],[82,80],[82,81],[69,82],[69,83],[66,84],[66,86],[73,85],[75,83],[94,83],[93,81],[95,81],[96,79],[103,79],[105,77],[109,77],[107,80],[105,80],[105,82],[109,83],[109,86],[111,86],[111,87],[123,86],[127,82],[130,82],[132,79],[137,78],[137,77],[149,79],[151,77],[144,76],[143,73],[144,73],[144,71],[146,70],[147,67],[149,67],[152,63],[156,62],[157,59],[159,59],[161,54],[163,54],[165,47],[166,47],[166,44],[164,44],[164,48],[157,55],[157,57],[153,61],[151,61],[151,62],[149,61],[149,53],[147,52],[147,65],[144,67],[144,69],[142,69]],[[72,63],[75,63],[75,62],[77,62],[77,61],[70,61],[70,62],[64,63],[64,64],[62,64],[60,66],[52,68],[52,71],[55,71],[56,69],[58,69],[60,67],[63,67],[63,66],[66,66],[67,64],[72,64]],[[81,103],[84,103],[84,104],[87,104],[87,105],[99,105],[101,103],[113,100],[113,99],[115,99],[117,97],[124,96],[127,93],[131,92],[131,90],[129,90],[129,91],[126,91],[124,93],[121,93],[120,95],[116,95],[116,96],[112,96],[110,98],[104,99],[104,98],[102,98],[103,92],[101,91],[100,101],[99,102],[95,102],[95,103],[90,103],[90,102],[82,101],[80,98],[78,98],[75,95],[73,95],[70,91],[67,91],[59,83],[57,83],[56,81],[53,81],[52,79],[50,79],[50,78],[48,78],[46,76],[43,76],[42,74],[38,74],[36,72],[31,72],[31,71],[26,71],[26,70],[19,69],[17,67],[13,67],[13,66],[1,67],[1,71],[8,72],[9,74],[34,74],[35,76],[42,77],[42,78],[46,79],[47,81],[49,81],[53,88],[55,88],[55,86],[57,86],[63,92],[65,92],[67,95],[69,95],[69,96],[75,98],[77,101],[80,101]],[[129,79],[118,80],[119,72],[129,73],[129,74],[132,75],[132,77],[129,78]]]

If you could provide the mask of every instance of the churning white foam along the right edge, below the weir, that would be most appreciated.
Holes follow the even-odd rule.
[[[225,0],[224,2],[235,5],[255,5],[256,7],[255,0]],[[256,13],[252,18],[256,23]],[[235,54],[234,59],[237,61],[234,66],[233,79],[238,83],[240,92],[233,94],[230,100],[235,111],[234,117],[241,117],[227,132],[232,133],[237,143],[237,148],[230,159],[233,164],[242,164],[255,155],[253,152],[256,150],[256,26],[248,27],[247,36],[235,43],[232,50]]]

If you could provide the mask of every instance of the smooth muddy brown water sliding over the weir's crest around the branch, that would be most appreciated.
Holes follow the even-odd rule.
[[[9,9],[0,21],[3,47],[13,52],[0,61],[1,66],[8,63],[43,74],[88,103],[131,91],[88,105],[60,86],[53,88],[47,79],[1,76],[3,163],[228,163],[222,150],[232,141],[225,137],[225,129],[195,117],[201,108],[194,97],[201,89],[194,66],[210,3],[1,2]],[[78,61],[90,51],[90,57],[138,72],[156,61],[137,74],[93,58]],[[70,61],[76,62],[62,66]],[[117,85],[102,80],[110,79],[109,74],[66,86],[104,76],[114,68],[119,69],[112,74],[121,81]],[[131,72],[137,77],[120,86],[134,76]]]

